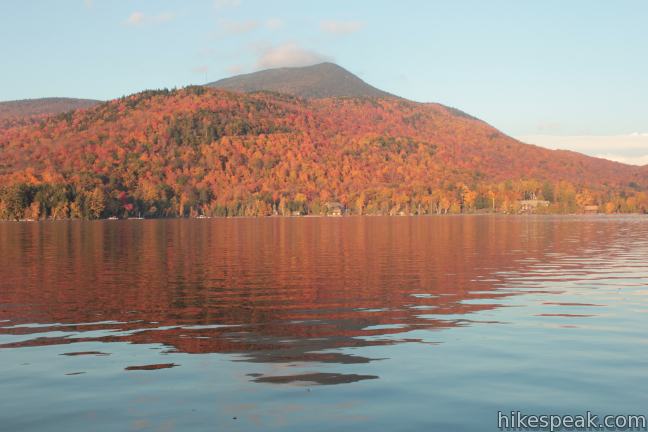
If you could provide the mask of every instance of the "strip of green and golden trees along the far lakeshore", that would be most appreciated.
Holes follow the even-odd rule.
[[[648,194],[629,196],[577,189],[567,182],[506,181],[495,185],[446,185],[423,188],[367,190],[337,201],[323,201],[303,193],[254,193],[227,201],[209,189],[185,188],[177,194],[172,186],[150,191],[124,191],[96,186],[89,190],[66,184],[0,187],[0,219],[101,219],[108,217],[164,218],[204,216],[271,215],[431,215],[460,213],[646,213]],[[148,197],[147,197],[148,195]],[[529,209],[529,203],[534,207]]]

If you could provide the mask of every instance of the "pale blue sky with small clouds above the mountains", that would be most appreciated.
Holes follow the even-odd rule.
[[[648,163],[645,0],[2,0],[0,101],[333,61],[550,148]]]

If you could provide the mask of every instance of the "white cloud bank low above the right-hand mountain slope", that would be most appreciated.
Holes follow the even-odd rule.
[[[525,135],[522,142],[550,149],[573,150],[632,165],[648,164],[648,133],[625,135]]]

